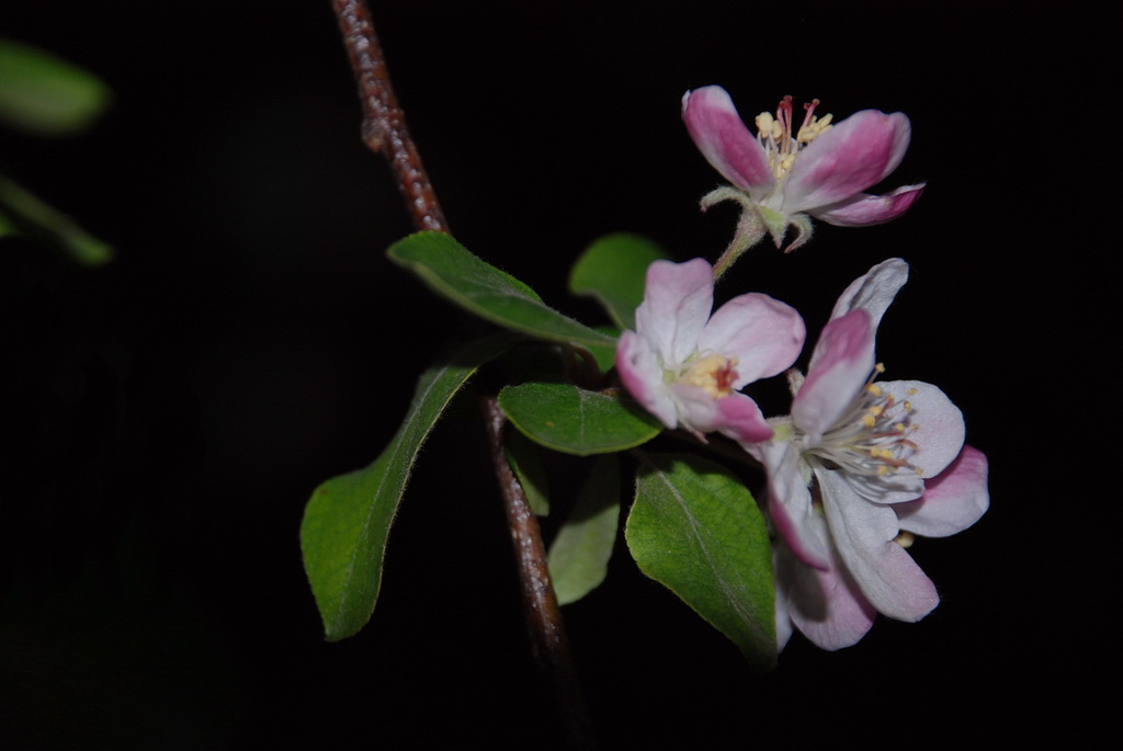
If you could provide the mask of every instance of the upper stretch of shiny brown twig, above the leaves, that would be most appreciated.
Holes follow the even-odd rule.
[[[405,113],[398,106],[366,2],[331,0],[331,7],[339,20],[363,102],[363,139],[372,152],[382,152],[390,163],[413,217],[413,226],[419,230],[447,232],[448,222],[405,127]]]

